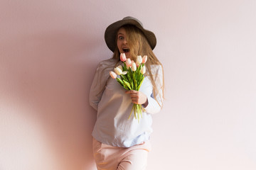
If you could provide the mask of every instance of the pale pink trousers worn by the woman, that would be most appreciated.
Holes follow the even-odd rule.
[[[151,145],[146,141],[132,147],[112,147],[93,138],[92,149],[98,170],[144,170]]]

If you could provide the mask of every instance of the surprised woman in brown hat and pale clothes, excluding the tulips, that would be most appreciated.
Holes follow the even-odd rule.
[[[105,41],[114,54],[98,64],[90,89],[90,105],[97,111],[92,132],[97,169],[142,170],[151,150],[151,115],[161,110],[164,96],[163,67],[152,51],[156,37],[128,16],[107,27]],[[139,91],[127,91],[110,77],[110,71],[122,64],[121,53],[134,61],[137,55],[147,55]],[[139,123],[133,114],[129,118],[134,103],[144,108]]]

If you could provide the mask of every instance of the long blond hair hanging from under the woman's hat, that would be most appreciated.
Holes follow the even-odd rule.
[[[139,28],[137,28],[136,26],[132,26],[132,25],[125,25],[125,26],[122,26],[122,28],[124,28],[124,30],[127,33],[127,43],[129,45],[131,59],[135,60],[138,55],[142,55],[142,56],[147,55],[148,60],[145,63],[146,70],[147,70],[146,76],[149,76],[151,84],[153,85],[154,98],[156,98],[156,96],[158,96],[158,95],[162,96],[161,97],[161,103],[162,103],[163,99],[164,99],[164,69],[163,69],[163,65],[161,64],[161,62],[159,62],[156,55],[154,55],[154,52],[152,51],[148,40],[146,40],[144,33],[142,33],[142,30],[139,30]],[[117,43],[117,37],[116,37],[115,42]],[[113,54],[112,58],[119,61],[120,60],[119,59],[120,52],[118,50],[117,44],[115,46],[116,46],[116,48],[114,50],[114,54]],[[161,78],[162,78],[163,82],[156,82],[156,81],[159,81],[159,79],[156,79],[156,77],[153,77],[153,74],[151,72],[151,65],[154,65],[154,64],[161,66],[161,70],[162,70]],[[161,84],[160,89],[156,88],[156,83]],[[161,94],[159,94],[159,93],[161,93]],[[157,103],[159,103],[159,101],[157,101]],[[162,105],[160,103],[159,103],[159,106],[162,107]]]

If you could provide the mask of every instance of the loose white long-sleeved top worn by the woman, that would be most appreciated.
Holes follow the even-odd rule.
[[[139,122],[132,113],[133,103],[129,94],[124,94],[124,89],[116,79],[110,77],[117,60],[110,59],[100,62],[95,72],[90,89],[90,105],[97,111],[97,120],[92,131],[96,140],[114,147],[132,147],[149,140],[152,132],[151,114],[158,113],[161,107],[153,98],[153,86],[148,77],[144,78],[139,91],[148,98],[148,106],[142,112]],[[120,62],[122,64],[122,62]],[[156,82],[162,82],[160,65],[152,65],[151,72]],[[156,84],[161,89],[161,84]],[[160,93],[161,94],[161,91]],[[161,104],[161,97],[156,99]],[[129,119],[128,119],[129,118]]]

